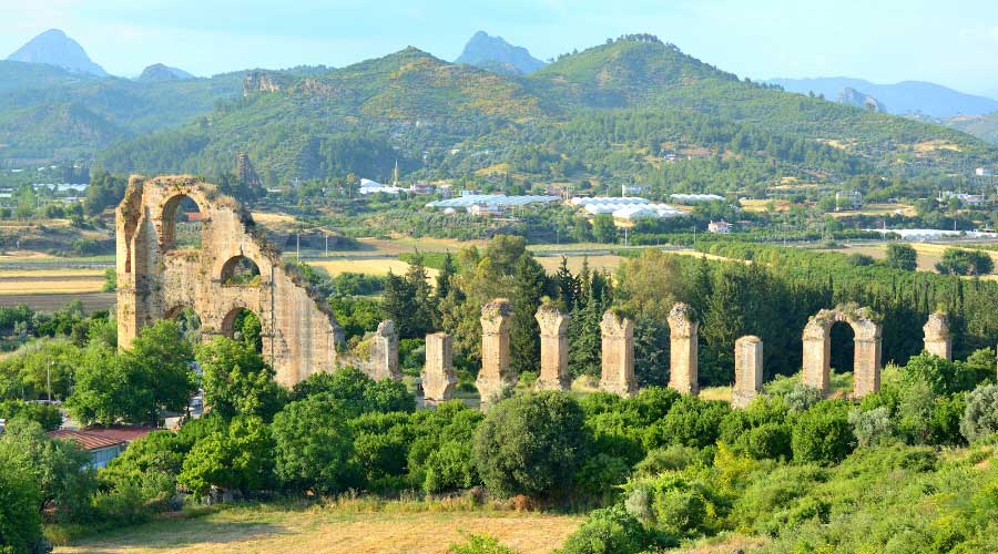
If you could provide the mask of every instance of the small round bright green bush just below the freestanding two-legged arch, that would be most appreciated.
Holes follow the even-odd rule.
[[[796,418],[791,447],[794,461],[832,464],[849,454],[854,440],[846,404],[824,400]]]

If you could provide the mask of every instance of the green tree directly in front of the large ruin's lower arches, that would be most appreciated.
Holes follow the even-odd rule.
[[[197,347],[204,401],[223,418],[259,416],[269,421],[286,396],[274,381],[276,372],[244,342],[215,337]]]

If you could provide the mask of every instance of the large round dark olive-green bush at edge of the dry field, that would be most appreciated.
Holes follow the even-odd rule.
[[[584,445],[582,409],[543,391],[503,400],[475,433],[475,463],[492,494],[544,496],[571,484]]]

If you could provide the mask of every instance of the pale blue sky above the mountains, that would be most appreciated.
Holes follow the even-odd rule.
[[[0,57],[62,29],[113,74],[334,66],[478,30],[542,60],[648,32],[752,79],[930,81],[998,98],[996,0],[0,0]]]

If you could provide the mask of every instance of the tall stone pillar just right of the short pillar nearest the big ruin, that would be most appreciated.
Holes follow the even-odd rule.
[[[481,371],[478,372],[478,393],[482,409],[488,409],[503,387],[517,384],[517,376],[509,369],[509,326],[512,304],[497,298],[481,307]]]

